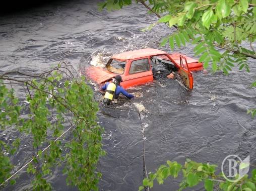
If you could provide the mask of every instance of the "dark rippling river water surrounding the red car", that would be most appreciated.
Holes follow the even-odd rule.
[[[68,60],[74,67],[100,65],[113,53],[139,48],[159,48],[161,37],[173,32],[164,25],[141,32],[157,18],[138,4],[115,12],[98,12],[97,2],[76,0],[55,2],[0,18],[0,71],[20,68],[41,72]],[[168,47],[162,50],[169,51]],[[194,57],[193,46],[175,51]],[[221,50],[220,50],[221,51]],[[195,58],[195,57],[194,57]],[[133,100],[144,106],[145,161],[154,171],[166,160],[183,163],[186,158],[217,164],[229,154],[241,158],[250,155],[255,164],[255,122],[247,109],[256,107],[256,91],[249,86],[255,79],[255,61],[249,59],[251,72],[234,69],[222,72],[194,72],[194,89],[189,91],[178,81],[167,78],[129,89],[141,95]],[[101,94],[95,88],[95,99]],[[19,92],[18,92],[19,94]],[[104,127],[100,159],[100,190],[137,190],[143,180],[143,138],[136,104],[121,100],[116,107],[100,104],[99,124]],[[1,137],[11,139],[15,130]],[[12,157],[20,168],[31,157],[32,148],[22,141],[19,153]],[[77,190],[67,186],[61,168],[48,177],[54,190]],[[20,173],[17,183],[4,190],[24,190],[31,176]],[[177,180],[168,179],[153,190],[176,190]],[[194,189],[203,190],[203,185]]]

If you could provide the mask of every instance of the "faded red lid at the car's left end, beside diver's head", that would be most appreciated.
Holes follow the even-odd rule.
[[[108,71],[105,68],[90,66],[85,70],[85,74],[88,78],[92,79],[96,83],[100,84],[109,81],[117,74]]]

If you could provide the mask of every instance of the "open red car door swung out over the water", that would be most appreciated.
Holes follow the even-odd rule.
[[[189,89],[193,89],[193,75],[191,74],[191,72],[189,71],[189,67],[186,61],[186,58],[184,56],[179,56],[179,61],[180,61],[180,65],[179,65],[179,69],[178,69],[178,73],[181,75],[183,84],[189,88]]]

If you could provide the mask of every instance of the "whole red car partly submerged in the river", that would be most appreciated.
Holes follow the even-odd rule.
[[[145,48],[113,55],[105,67],[90,66],[85,75],[98,84],[110,81],[121,75],[123,88],[141,85],[154,80],[153,64],[162,64],[167,70],[174,71],[182,77],[184,85],[193,89],[191,71],[203,70],[203,63],[185,55],[168,54],[162,50]]]

